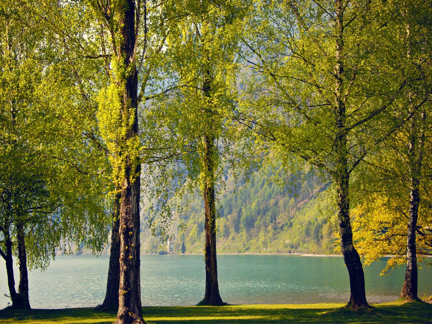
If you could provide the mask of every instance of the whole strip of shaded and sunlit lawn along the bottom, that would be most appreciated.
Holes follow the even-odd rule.
[[[154,324],[248,324],[248,323],[432,323],[432,305],[396,301],[350,311],[343,304],[228,305],[221,307],[143,307],[143,317]],[[0,311],[1,324],[111,324],[116,312],[95,308],[32,309]]]

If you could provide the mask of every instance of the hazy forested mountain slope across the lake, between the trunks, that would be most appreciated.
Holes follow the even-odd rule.
[[[218,253],[334,253],[332,213],[321,212],[327,206],[328,183],[311,171],[291,176],[285,187],[273,182],[273,177],[269,172],[254,172],[250,181],[235,184],[232,175],[225,176],[217,203]],[[202,253],[203,202],[198,193],[180,204],[186,205],[186,200],[191,201],[189,208],[175,214],[168,235],[174,238],[175,253],[181,253],[183,242],[186,253]],[[141,252],[165,251],[166,241],[151,235],[143,207]]]

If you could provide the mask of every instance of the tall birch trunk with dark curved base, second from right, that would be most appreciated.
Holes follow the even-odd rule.
[[[336,190],[339,219],[340,249],[343,260],[349,274],[350,298],[347,307],[367,307],[365,292],[365,275],[359,254],[353,245],[353,232],[349,220],[349,172],[348,172],[348,150],[346,147],[346,107],[343,100],[343,3],[336,0],[336,64],[334,66],[335,76],[335,118],[336,137],[335,149],[337,156]]]

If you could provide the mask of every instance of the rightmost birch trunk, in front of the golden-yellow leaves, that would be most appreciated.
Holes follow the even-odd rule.
[[[411,123],[410,142],[408,144],[408,155],[410,156],[410,212],[408,218],[407,231],[407,270],[405,272],[405,280],[403,281],[401,299],[418,299],[417,297],[417,248],[416,248],[416,227],[419,214],[419,184],[420,172],[422,167],[422,152],[424,143],[424,121],[426,112],[422,112],[422,129],[417,141],[416,124],[414,115]],[[418,142],[418,143],[416,143]]]

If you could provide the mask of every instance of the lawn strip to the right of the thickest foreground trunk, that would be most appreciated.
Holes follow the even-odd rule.
[[[224,307],[143,308],[145,318],[157,324],[196,323],[427,323],[432,306],[424,303],[375,305],[352,311],[341,305],[237,305]],[[176,318],[177,317],[177,318]]]

